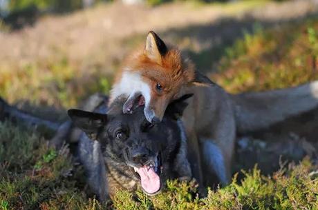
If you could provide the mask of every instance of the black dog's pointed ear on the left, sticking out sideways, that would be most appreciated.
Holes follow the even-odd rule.
[[[79,109],[69,109],[67,114],[73,123],[86,134],[97,134],[98,130],[107,123],[106,114],[86,112]]]

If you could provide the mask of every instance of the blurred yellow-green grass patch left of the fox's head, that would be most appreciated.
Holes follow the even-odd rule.
[[[111,76],[94,68],[79,71],[62,54],[46,61],[11,64],[0,65],[0,96],[9,102],[28,99],[34,104],[74,107],[85,96],[110,89]]]

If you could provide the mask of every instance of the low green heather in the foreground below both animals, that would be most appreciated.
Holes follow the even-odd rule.
[[[317,166],[304,159],[271,177],[255,167],[231,185],[198,198],[195,182],[169,180],[153,198],[120,191],[101,205],[84,193],[82,169],[66,148],[55,151],[34,132],[0,123],[0,204],[2,209],[317,209]]]

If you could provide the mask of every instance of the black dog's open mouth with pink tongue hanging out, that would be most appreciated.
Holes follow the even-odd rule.
[[[160,174],[162,172],[162,164],[160,154],[157,155],[156,161],[151,161],[147,165],[142,167],[133,167],[133,170],[140,178],[140,184],[142,191],[148,196],[155,196],[161,190],[162,183],[160,180]]]

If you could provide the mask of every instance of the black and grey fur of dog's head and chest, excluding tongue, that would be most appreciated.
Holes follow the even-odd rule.
[[[97,180],[98,185],[91,185],[92,189],[103,195],[106,192],[99,191],[100,183],[102,185],[107,183],[108,193],[111,196],[118,189],[133,191],[140,184],[133,169],[138,171],[144,167],[148,167],[148,171],[153,170],[156,174],[160,174],[161,184],[165,183],[167,178],[191,178],[185,134],[182,123],[178,123],[176,116],[182,114],[185,102],[171,103],[162,123],[151,125],[144,118],[143,107],[138,107],[133,114],[123,114],[121,107],[126,100],[127,98],[117,98],[109,107],[107,114],[84,112],[79,109],[68,111],[73,123],[86,133],[79,140],[79,156],[84,165],[91,167],[88,171],[93,172],[88,174],[89,182]],[[117,137],[116,134],[124,137]],[[88,139],[95,139],[98,143],[89,143]],[[88,151],[93,153],[90,154]],[[102,158],[106,169],[100,163]],[[156,168],[155,165],[158,167]],[[98,172],[96,173],[92,167],[97,168]],[[101,180],[105,177],[102,174],[106,174],[107,180]],[[140,177],[143,176],[140,174]],[[142,190],[149,195],[160,191],[160,189],[156,191],[149,189],[142,187]]]

